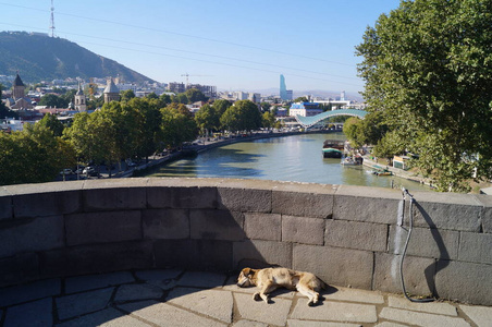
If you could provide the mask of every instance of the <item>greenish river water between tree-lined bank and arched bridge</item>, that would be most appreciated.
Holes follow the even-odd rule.
[[[151,177],[239,178],[391,187],[428,191],[417,182],[396,177],[377,177],[365,166],[342,166],[324,159],[323,141],[345,140],[342,133],[299,134],[241,142],[213,148],[193,159],[159,167]]]

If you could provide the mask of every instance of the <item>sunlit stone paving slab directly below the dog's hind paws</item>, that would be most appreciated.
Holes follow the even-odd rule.
[[[342,323],[377,323],[376,305],[330,302],[308,306],[307,300],[300,299],[291,314],[293,319],[325,320]]]

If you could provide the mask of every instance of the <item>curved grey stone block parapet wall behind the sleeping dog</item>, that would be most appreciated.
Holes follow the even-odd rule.
[[[492,305],[492,197],[415,192],[407,291]],[[396,190],[227,179],[0,186],[0,287],[59,276],[279,265],[402,292]]]

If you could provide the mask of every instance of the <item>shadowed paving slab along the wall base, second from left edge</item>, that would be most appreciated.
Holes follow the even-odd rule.
[[[65,292],[70,294],[134,281],[128,271],[70,277],[65,280]]]

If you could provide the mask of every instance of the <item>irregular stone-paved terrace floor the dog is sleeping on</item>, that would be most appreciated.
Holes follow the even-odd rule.
[[[309,307],[295,292],[271,304],[254,292],[235,275],[181,269],[57,278],[0,289],[0,326],[492,326],[489,306],[332,287]]]

